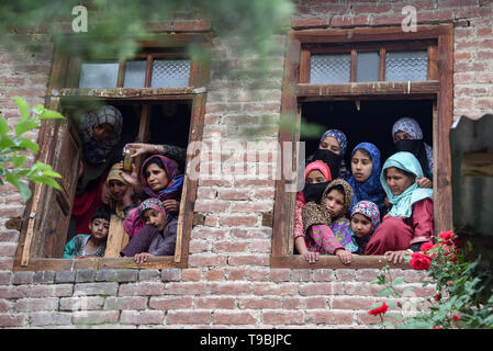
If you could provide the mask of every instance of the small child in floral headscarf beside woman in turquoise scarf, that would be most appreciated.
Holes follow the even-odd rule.
[[[380,224],[380,212],[377,204],[371,201],[358,202],[351,211],[351,237],[358,248],[356,254],[365,254],[368,241]]]

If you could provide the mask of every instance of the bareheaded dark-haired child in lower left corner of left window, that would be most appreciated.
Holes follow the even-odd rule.
[[[79,234],[65,245],[64,259],[103,257],[110,229],[110,211],[99,207],[92,213],[89,223],[90,234]]]

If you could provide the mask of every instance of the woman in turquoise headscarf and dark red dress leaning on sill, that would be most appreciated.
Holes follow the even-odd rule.
[[[433,190],[417,186],[423,177],[411,152],[396,152],[383,165],[380,182],[392,208],[368,242],[366,254],[385,254],[402,262],[433,236]]]

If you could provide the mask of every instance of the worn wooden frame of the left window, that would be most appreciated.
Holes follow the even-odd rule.
[[[180,34],[163,34],[165,41],[163,43],[142,42],[143,50],[156,50],[157,48],[181,48],[181,53],[186,52],[186,46],[190,43],[200,43],[210,47],[212,44],[212,35],[209,33],[180,33]],[[141,54],[137,54],[137,56]],[[177,57],[177,54],[171,54]],[[181,55],[183,54],[178,54]],[[145,54],[148,63],[154,57],[169,57],[169,54]],[[78,77],[80,72],[81,59],[79,57],[69,57],[60,48],[55,48],[52,75],[48,82],[47,93],[45,98],[45,106],[52,110],[61,110],[64,99],[97,99],[103,101],[117,102],[149,102],[169,100],[188,100],[191,101],[191,120],[189,129],[189,145],[194,141],[202,140],[202,131],[204,126],[205,100],[206,100],[206,82],[209,81],[209,63],[198,63],[197,57],[191,57],[190,81],[187,88],[122,88],[124,71],[124,63],[120,63],[119,86],[109,89],[79,89]],[[147,70],[147,75],[149,71]],[[149,79],[146,78],[146,87],[149,87]],[[144,104],[144,106],[146,106]],[[148,105],[147,105],[148,106]],[[147,110],[147,111],[144,111]],[[143,109],[141,115],[142,124],[149,124],[150,109]],[[43,121],[40,129],[38,143],[40,152],[37,159],[44,162],[53,160],[53,151],[56,145],[56,138],[53,134],[58,133],[61,127],[66,127],[66,132],[70,132],[69,118],[65,121]],[[54,132],[55,131],[55,132]],[[142,137],[142,135],[138,135]],[[72,138],[77,136],[72,135]],[[80,157],[80,155],[79,155]],[[180,202],[180,215],[178,217],[177,246],[175,256],[149,258],[146,263],[136,264],[133,258],[85,258],[85,259],[61,259],[61,258],[43,258],[33,254],[35,251],[36,238],[40,236],[35,231],[36,211],[42,207],[41,202],[48,192],[52,201],[58,195],[58,190],[48,188],[47,185],[31,184],[33,196],[27,201],[21,225],[21,234],[19,246],[14,259],[13,271],[41,271],[41,270],[74,270],[74,269],[127,269],[127,268],[146,268],[146,269],[164,269],[164,268],[187,268],[189,254],[190,234],[193,226],[193,205],[197,196],[198,180],[188,177],[188,167],[193,157],[197,155],[187,154],[187,167],[183,180],[183,190]],[[75,177],[74,177],[75,179]],[[74,182],[74,180],[71,180]],[[75,186],[74,194],[75,194]],[[74,196],[72,194],[72,196]],[[58,197],[56,197],[58,200]],[[71,204],[66,204],[71,213]],[[41,216],[41,215],[40,215]],[[63,238],[65,242],[65,237]]]

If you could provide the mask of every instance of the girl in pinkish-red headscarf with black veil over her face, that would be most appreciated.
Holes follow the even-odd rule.
[[[306,248],[302,210],[307,202],[320,203],[322,194],[332,180],[330,169],[322,161],[309,163],[304,173],[305,185],[302,192],[296,194],[296,214],[294,218],[294,247],[300,254],[303,254],[309,263],[314,263],[318,259],[318,252],[310,251]]]

